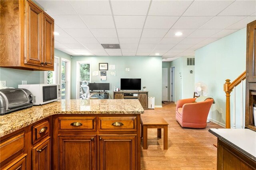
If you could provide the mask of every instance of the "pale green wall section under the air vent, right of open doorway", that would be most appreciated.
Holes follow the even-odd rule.
[[[194,66],[187,65],[187,57],[180,57],[170,62],[170,67],[175,67],[175,102],[180,99],[193,98],[194,95]],[[193,73],[190,73],[190,70]]]

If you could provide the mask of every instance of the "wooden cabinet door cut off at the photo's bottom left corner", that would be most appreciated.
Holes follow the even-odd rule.
[[[2,170],[26,170],[26,156],[27,154],[23,154]]]

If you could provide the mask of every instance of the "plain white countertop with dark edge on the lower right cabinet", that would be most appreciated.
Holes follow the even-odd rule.
[[[209,132],[256,161],[256,132],[250,129],[210,128]]]

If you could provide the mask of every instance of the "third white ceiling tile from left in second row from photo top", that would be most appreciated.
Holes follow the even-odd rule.
[[[135,28],[143,27],[146,16],[114,16],[116,28]]]

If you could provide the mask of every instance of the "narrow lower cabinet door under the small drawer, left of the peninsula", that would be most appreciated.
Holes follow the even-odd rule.
[[[50,170],[51,166],[50,137],[32,148],[33,170]]]

